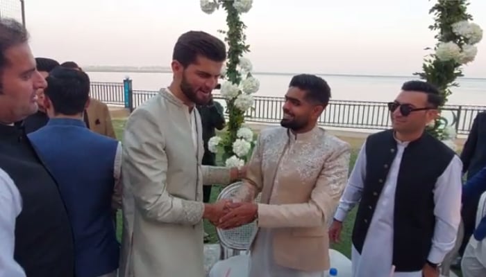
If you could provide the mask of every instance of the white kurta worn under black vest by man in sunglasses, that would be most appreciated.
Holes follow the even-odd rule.
[[[344,221],[346,214],[361,199],[366,177],[366,151],[363,144],[355,167],[349,177],[348,185],[337,208],[335,219]],[[364,240],[362,253],[353,247],[351,260],[353,262],[353,277],[390,276],[392,272],[393,238],[394,238],[394,200],[396,181],[403,151],[407,142],[397,141],[397,153],[389,174],[383,186],[382,193],[376,204],[367,237]],[[428,256],[430,262],[440,263],[444,260],[455,244],[460,222],[460,202],[462,193],[461,182],[462,162],[459,157],[453,157],[449,166],[437,179],[434,190],[434,214],[436,217],[432,248]],[[414,255],[414,253],[410,253]],[[379,262],[377,262],[379,261]],[[421,277],[421,271],[395,272],[395,277]]]

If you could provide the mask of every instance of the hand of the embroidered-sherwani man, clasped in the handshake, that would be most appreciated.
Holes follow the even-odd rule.
[[[217,225],[220,229],[233,229],[253,222],[258,215],[258,205],[249,202],[232,203],[228,205],[229,213],[226,213]]]

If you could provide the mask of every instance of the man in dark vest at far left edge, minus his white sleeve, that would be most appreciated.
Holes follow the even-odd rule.
[[[45,87],[26,30],[15,20],[0,19],[0,168],[22,197],[14,258],[28,277],[72,277],[73,235],[65,204],[22,125],[37,111],[35,92]]]

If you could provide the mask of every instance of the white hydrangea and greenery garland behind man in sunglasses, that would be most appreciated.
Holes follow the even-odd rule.
[[[463,76],[461,66],[474,61],[478,53],[476,44],[483,39],[483,30],[471,22],[467,6],[467,0],[438,0],[429,10],[429,14],[434,15],[434,24],[428,28],[437,31],[438,42],[435,53],[424,59],[423,72],[414,75],[434,84],[442,93],[444,101],[439,109],[452,94],[451,87],[459,86],[455,79]],[[427,131],[455,150],[455,128],[447,125],[447,120],[440,117],[428,125]]]

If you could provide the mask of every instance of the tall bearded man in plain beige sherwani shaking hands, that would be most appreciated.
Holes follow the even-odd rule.
[[[224,202],[203,204],[203,184],[228,184],[237,168],[201,166],[202,127],[194,105],[217,85],[226,47],[203,32],[181,35],[174,80],[137,107],[124,134],[124,235],[120,276],[200,277],[203,219],[217,222]]]

